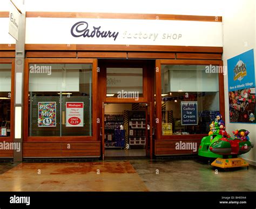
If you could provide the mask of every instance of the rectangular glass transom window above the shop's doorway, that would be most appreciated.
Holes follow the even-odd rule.
[[[143,97],[143,68],[107,68],[106,97]]]

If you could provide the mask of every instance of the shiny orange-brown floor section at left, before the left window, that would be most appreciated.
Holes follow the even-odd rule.
[[[147,191],[128,161],[23,163],[0,175],[0,191]]]

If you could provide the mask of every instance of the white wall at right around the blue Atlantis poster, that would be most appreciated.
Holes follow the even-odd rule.
[[[233,0],[232,3],[225,5],[223,15],[223,61],[225,66],[227,66],[227,59],[250,49],[254,49],[254,65],[256,66],[255,11],[255,0]],[[227,75],[225,76],[225,116],[228,133],[232,133],[236,129],[247,129],[250,131],[251,142],[256,146],[256,124],[229,123]],[[250,164],[256,165],[256,147],[243,154],[242,157]]]

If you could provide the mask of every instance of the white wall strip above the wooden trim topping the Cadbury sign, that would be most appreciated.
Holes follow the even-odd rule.
[[[23,0],[13,0],[17,4]],[[10,0],[1,0],[0,11],[9,11]],[[25,0],[26,11],[119,12],[221,16],[223,0]]]

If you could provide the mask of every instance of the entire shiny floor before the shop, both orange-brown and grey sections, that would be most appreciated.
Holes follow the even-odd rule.
[[[255,176],[196,160],[0,164],[0,191],[256,191]]]

